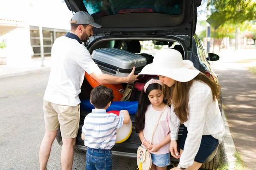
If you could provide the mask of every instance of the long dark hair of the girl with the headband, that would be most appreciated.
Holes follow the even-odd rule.
[[[141,91],[140,99],[138,103],[138,110],[135,114],[136,133],[140,133],[140,131],[143,130],[145,127],[145,113],[147,111],[148,105],[150,104],[150,101],[148,99],[148,94],[155,89],[162,90],[162,86],[160,84],[154,83],[154,84],[148,85],[148,88],[146,89],[146,93],[144,92],[144,90]]]

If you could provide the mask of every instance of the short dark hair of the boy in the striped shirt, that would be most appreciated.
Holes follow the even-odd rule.
[[[113,102],[114,95],[111,88],[107,88],[105,85],[99,85],[91,91],[90,102],[95,108],[103,109],[109,102]]]

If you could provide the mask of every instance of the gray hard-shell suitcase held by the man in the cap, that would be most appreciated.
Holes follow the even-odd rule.
[[[96,49],[92,57],[103,73],[118,77],[127,77],[134,66],[138,74],[147,64],[146,57],[118,48]]]

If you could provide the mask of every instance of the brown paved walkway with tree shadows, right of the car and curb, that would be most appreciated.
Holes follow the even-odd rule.
[[[224,111],[236,150],[251,170],[256,170],[256,76],[247,67],[256,63],[236,61],[245,57],[255,59],[255,52],[236,56],[222,54],[220,57],[224,58],[213,62],[222,87]]]

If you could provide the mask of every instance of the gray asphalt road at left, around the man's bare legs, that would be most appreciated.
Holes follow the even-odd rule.
[[[0,170],[38,170],[44,136],[43,96],[49,71],[0,79]],[[55,141],[48,170],[61,170]],[[73,170],[84,170],[86,156],[75,153]],[[135,170],[135,159],[113,157],[113,170]]]

